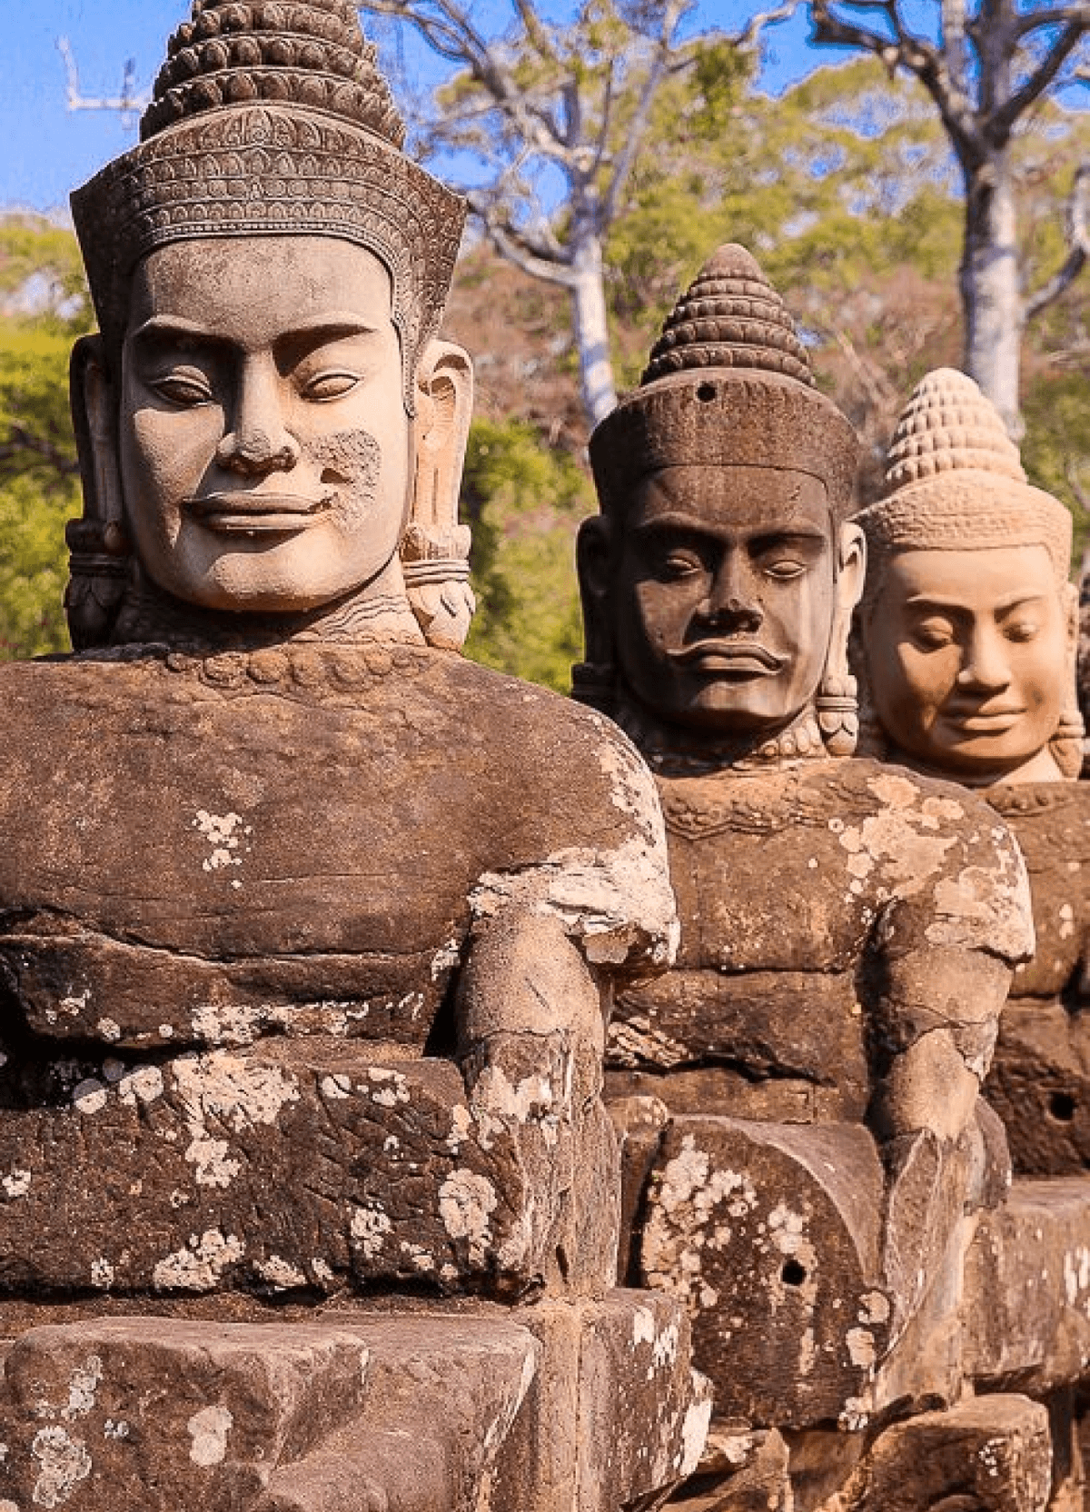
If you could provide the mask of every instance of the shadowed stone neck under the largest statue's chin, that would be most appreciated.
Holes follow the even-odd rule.
[[[166,644],[218,652],[287,641],[352,644],[376,640],[425,644],[401,581],[386,593],[375,593],[373,585],[367,585],[316,609],[233,614],[184,603],[159,588],[136,567],[110,644]]]

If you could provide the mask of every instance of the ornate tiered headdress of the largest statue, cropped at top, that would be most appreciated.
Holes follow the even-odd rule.
[[[464,221],[411,162],[349,0],[194,0],[141,145],[73,195],[98,322],[115,346],[136,263],[195,237],[336,236],[390,271],[405,402],[440,324]]]

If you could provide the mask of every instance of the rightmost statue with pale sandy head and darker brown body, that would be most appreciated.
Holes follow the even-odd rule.
[[[887,491],[859,520],[871,569],[860,650],[868,735],[892,761],[987,791],[1030,868],[1037,953],[1019,966],[987,1095],[1014,1169],[1090,1157],[1090,789],[1075,697],[1069,511],[1025,481],[971,378],[930,373],[901,417]]]

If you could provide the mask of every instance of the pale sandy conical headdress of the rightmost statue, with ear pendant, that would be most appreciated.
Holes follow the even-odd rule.
[[[1017,446],[995,405],[972,378],[937,367],[916,386],[886,458],[886,496],[857,516],[868,541],[865,612],[881,591],[884,564],[896,552],[989,550],[1043,546],[1057,591],[1072,605],[1070,513],[1027,482]],[[1072,659],[1073,662],[1073,659]],[[1075,668],[1052,753],[1066,776],[1082,762],[1082,718]]]

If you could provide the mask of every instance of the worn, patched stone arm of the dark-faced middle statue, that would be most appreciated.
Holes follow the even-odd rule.
[[[1033,950],[1020,854],[1005,832],[989,868],[963,868],[893,906],[871,971],[871,1126],[886,1170],[881,1264],[893,1332],[960,1266],[966,1214],[1010,1178],[1005,1139],[980,1099],[1013,968]],[[965,859],[958,856],[958,859]]]

